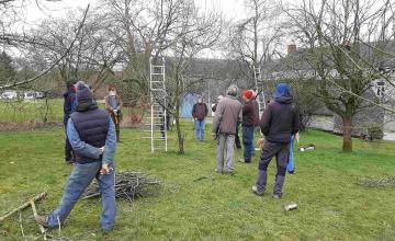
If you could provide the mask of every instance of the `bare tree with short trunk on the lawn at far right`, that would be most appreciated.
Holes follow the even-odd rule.
[[[363,96],[382,74],[377,67],[383,55],[361,39],[381,49],[393,39],[394,4],[388,0],[304,0],[285,9],[293,36],[305,47],[298,60],[317,73],[311,77],[317,81],[315,95],[342,119],[346,152],[352,151],[352,117],[366,107]]]

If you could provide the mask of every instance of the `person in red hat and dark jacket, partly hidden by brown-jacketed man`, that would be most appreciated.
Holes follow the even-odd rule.
[[[253,92],[251,90],[245,91],[242,94],[242,145],[244,145],[244,159],[240,161],[244,163],[251,163],[251,157],[253,152],[253,126],[256,124],[256,110],[253,105]]]

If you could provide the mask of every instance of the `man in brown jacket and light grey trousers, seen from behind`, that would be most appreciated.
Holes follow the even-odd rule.
[[[217,168],[216,172],[233,175],[235,172],[234,145],[236,124],[241,122],[241,103],[237,100],[238,88],[232,84],[227,95],[218,102],[213,123],[213,133],[217,135]],[[224,167],[224,150],[226,145],[226,167]]]

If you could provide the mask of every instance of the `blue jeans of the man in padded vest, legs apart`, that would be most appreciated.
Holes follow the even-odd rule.
[[[56,228],[59,222],[60,225],[65,222],[67,216],[72,210],[72,207],[94,177],[99,183],[102,196],[103,210],[101,216],[101,227],[103,230],[111,230],[114,227],[116,214],[114,190],[115,174],[114,171],[111,171],[108,175],[100,175],[99,171],[101,164],[101,162],[75,164],[60,206],[48,216],[48,226],[50,228]]]

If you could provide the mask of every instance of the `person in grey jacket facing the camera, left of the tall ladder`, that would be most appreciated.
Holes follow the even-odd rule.
[[[122,101],[120,95],[116,94],[116,89],[114,85],[109,87],[109,95],[104,97],[105,108],[111,115],[112,120],[115,124],[116,130],[116,142],[121,142],[120,140],[120,124],[122,120]]]

